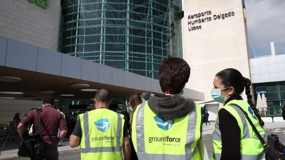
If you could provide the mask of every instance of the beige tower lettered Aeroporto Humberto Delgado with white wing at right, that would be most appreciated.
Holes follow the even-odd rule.
[[[267,104],[285,104],[285,53],[250,56],[247,36],[246,6],[243,0],[184,0],[182,19],[183,58],[191,67],[187,88],[204,93],[204,101],[213,100],[215,75],[225,68],[235,68],[252,81],[252,95],[263,90]],[[270,54],[270,53],[268,53]],[[243,99],[247,99],[243,94]],[[215,120],[219,104],[201,104]]]

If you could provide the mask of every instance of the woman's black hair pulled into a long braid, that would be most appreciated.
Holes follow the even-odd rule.
[[[257,116],[260,126],[264,126],[264,122],[252,102],[252,95],[250,94],[250,79],[243,77],[241,72],[234,68],[227,68],[225,70],[222,70],[217,73],[216,76],[221,79],[222,84],[225,86],[225,88],[234,87],[234,95],[240,95],[245,89],[245,94],[247,95],[247,103],[250,105],[254,114]]]

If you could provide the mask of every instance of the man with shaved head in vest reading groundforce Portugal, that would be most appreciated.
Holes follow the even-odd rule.
[[[97,91],[95,107],[79,115],[70,136],[70,147],[81,148],[81,160],[129,160],[131,147],[124,115],[109,110],[111,94],[106,89]]]

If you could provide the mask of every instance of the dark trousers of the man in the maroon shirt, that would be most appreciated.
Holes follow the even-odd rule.
[[[50,145],[44,143],[44,157],[31,158],[31,160],[58,160],[57,145]]]

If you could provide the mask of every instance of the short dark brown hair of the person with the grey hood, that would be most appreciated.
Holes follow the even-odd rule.
[[[190,66],[182,58],[172,58],[161,61],[159,68],[159,83],[163,93],[179,94],[190,77]]]

